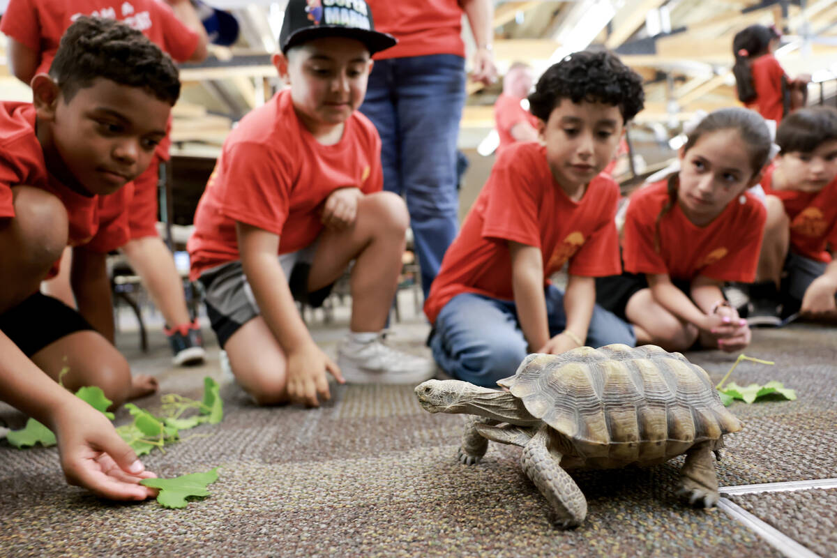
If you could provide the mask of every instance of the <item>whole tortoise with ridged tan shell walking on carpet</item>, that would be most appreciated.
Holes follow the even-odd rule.
[[[587,515],[587,500],[565,469],[653,465],[686,453],[679,494],[698,507],[717,503],[712,453],[719,456],[723,435],[742,424],[706,371],[680,353],[614,344],[532,354],[497,383],[508,391],[429,380],[415,393],[426,411],[473,415],[462,463],[479,462],[489,440],[521,446],[521,466],[555,509],[558,526],[578,526]]]

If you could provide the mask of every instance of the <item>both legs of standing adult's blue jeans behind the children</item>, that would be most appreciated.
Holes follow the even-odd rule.
[[[377,60],[360,108],[381,136],[384,189],[406,199],[425,299],[459,227],[463,105],[465,59],[432,54]]]

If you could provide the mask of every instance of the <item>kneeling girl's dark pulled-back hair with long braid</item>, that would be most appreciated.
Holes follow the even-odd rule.
[[[730,107],[728,109],[719,109],[711,112],[709,115],[701,120],[701,123],[692,130],[683,145],[683,152],[688,152],[695,146],[698,140],[706,134],[721,130],[736,130],[741,136],[743,145],[747,148],[750,155],[750,167],[752,168],[752,177],[755,177],[758,171],[761,171],[763,166],[767,165],[770,157],[770,148],[773,146],[773,140],[770,137],[770,130],[764,119],[754,110],[744,109],[742,107]],[[667,212],[671,211],[677,202],[677,187],[680,186],[680,173],[672,173],[668,179],[668,193],[669,199],[660,210],[655,221],[655,235],[654,248],[660,252],[660,220]]]

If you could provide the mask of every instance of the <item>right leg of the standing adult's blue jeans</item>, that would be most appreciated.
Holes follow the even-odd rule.
[[[404,197],[424,297],[459,228],[456,141],[465,104],[465,59],[397,59],[395,106]]]

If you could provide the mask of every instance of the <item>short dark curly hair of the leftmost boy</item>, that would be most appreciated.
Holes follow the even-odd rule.
[[[49,67],[66,100],[96,78],[141,87],[174,105],[180,96],[177,68],[145,35],[112,19],[81,16],[67,28]]]

